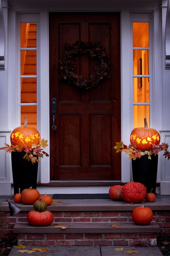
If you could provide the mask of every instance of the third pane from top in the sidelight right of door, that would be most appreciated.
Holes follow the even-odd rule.
[[[134,102],[149,102],[149,78],[134,78]]]

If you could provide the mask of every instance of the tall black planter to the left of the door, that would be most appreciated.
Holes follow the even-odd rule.
[[[25,154],[24,151],[11,152],[14,194],[18,193],[19,188],[21,192],[24,188],[36,189],[38,162],[32,164],[31,161],[23,159]]]

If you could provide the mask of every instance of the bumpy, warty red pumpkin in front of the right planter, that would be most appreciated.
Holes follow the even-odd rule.
[[[146,197],[146,187],[142,183],[130,181],[123,186],[121,193],[124,201],[140,203]]]

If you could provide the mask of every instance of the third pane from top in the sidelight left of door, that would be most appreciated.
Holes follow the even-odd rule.
[[[36,78],[21,78],[21,103],[36,103]]]

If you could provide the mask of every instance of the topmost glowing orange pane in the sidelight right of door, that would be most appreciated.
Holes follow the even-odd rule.
[[[148,22],[133,22],[133,47],[149,47]]]

